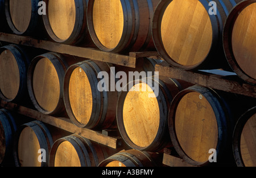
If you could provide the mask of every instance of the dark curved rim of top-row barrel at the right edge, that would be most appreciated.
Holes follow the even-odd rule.
[[[226,60],[229,63],[229,66],[232,68],[232,70],[240,77],[242,80],[244,80],[247,83],[256,84],[256,79],[250,77],[241,69],[241,67],[238,65],[236,58],[234,57],[233,49],[232,49],[232,31],[233,31],[233,24],[238,18],[240,12],[245,9],[247,6],[251,5],[251,3],[255,3],[256,1],[242,1],[240,3],[237,3],[236,6],[230,11],[228,17],[226,18],[225,24],[224,24],[224,30],[222,34],[222,41],[223,41],[223,48],[224,53],[226,56]]]

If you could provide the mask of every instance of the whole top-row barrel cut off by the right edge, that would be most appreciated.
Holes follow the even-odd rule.
[[[256,1],[243,1],[230,12],[223,32],[229,65],[241,79],[252,84],[256,84],[255,18]]]

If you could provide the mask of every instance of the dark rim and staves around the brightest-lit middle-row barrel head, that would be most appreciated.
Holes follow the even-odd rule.
[[[123,115],[122,108],[123,108],[126,95],[129,92],[129,90],[122,91],[121,94],[118,96],[118,104],[117,104],[118,130],[119,130],[119,133],[121,134],[121,137],[123,138],[123,141],[125,141],[125,143],[128,146],[130,146],[132,149],[141,150],[141,151],[161,151],[166,146],[172,146],[170,135],[168,134],[168,123],[167,123],[168,109],[167,108],[170,106],[171,101],[175,96],[175,92],[171,93],[169,91],[170,87],[167,86],[167,82],[166,81],[163,82],[162,80],[159,80],[159,86],[161,89],[159,90],[158,98],[159,100],[161,100],[161,102],[159,103],[159,100],[158,100],[158,103],[160,104],[159,107],[162,108],[163,113],[160,112],[160,124],[159,124],[158,133],[156,134],[154,141],[152,141],[152,143],[146,147],[135,145],[135,143],[133,143],[133,141],[131,141],[131,139],[129,138],[129,135],[127,135],[127,133],[125,132],[125,126],[122,121],[122,115]],[[181,86],[179,82],[175,79],[171,79],[171,80],[174,84],[177,85],[177,90],[181,90]],[[140,80],[134,80],[133,82],[146,83],[146,78],[140,79]],[[129,85],[129,83],[127,83],[127,85]]]

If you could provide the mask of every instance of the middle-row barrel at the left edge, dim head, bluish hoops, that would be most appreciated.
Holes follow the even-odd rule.
[[[27,69],[30,58],[19,45],[0,48],[0,98],[19,102],[27,96]]]

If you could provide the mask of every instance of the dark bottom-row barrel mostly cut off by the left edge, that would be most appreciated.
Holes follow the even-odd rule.
[[[9,111],[0,109],[0,166],[13,165],[13,141],[16,122]]]

